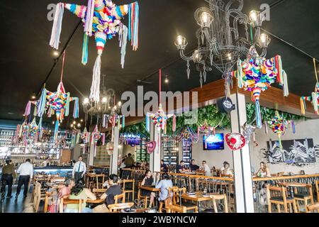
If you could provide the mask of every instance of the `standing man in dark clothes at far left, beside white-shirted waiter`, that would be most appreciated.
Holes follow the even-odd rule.
[[[6,160],[6,165],[2,168],[1,177],[1,196],[11,198],[13,178],[16,178],[16,170],[11,160]],[[6,185],[8,185],[8,194],[6,194]]]

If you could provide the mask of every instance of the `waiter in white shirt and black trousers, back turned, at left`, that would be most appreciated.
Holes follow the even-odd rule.
[[[30,179],[33,177],[33,165],[30,163],[30,159],[26,159],[26,162],[22,163],[18,167],[17,172],[19,174],[19,179],[18,187],[16,188],[16,199],[18,199],[22,185],[24,185],[23,196],[26,198],[28,193],[28,184]]]

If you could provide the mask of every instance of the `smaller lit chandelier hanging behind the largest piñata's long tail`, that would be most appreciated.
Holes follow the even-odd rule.
[[[85,121],[87,121],[88,117],[91,116],[92,123],[92,118],[95,116],[97,123],[99,123],[99,120],[103,118],[104,114],[118,114],[121,111],[122,103],[121,101],[118,101],[116,104],[116,94],[113,89],[106,89],[105,78],[106,75],[103,74],[100,88],[100,101],[94,102],[85,98],[82,103],[83,111],[85,113]]]

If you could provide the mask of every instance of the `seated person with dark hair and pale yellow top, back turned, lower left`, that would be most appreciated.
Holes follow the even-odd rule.
[[[82,199],[82,213],[91,213],[92,210],[86,207],[86,200],[96,200],[95,194],[90,189],[84,188],[83,179],[79,179],[78,182],[72,187],[69,199]],[[79,204],[67,204],[65,213],[77,213],[79,211]]]

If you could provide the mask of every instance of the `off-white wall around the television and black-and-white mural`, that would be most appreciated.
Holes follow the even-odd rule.
[[[293,134],[291,126],[289,125],[286,135],[284,135],[282,140],[293,140],[293,139],[304,139],[312,138],[314,145],[319,145],[319,119],[317,120],[308,120],[308,121],[295,121],[296,125],[296,134]],[[225,131],[216,131],[216,133],[229,133],[229,129]],[[259,162],[266,162],[260,151],[262,148],[267,148],[267,141],[269,139],[278,140],[276,134],[268,128],[268,134],[265,133],[264,128],[257,129],[256,131],[256,140],[259,144],[257,147],[254,147],[252,142],[250,143],[250,158],[252,162],[252,167],[255,172],[259,168]],[[236,152],[236,151],[235,151]],[[238,151],[237,151],[238,152]],[[225,150],[203,150],[203,137],[201,136],[198,143],[194,144],[193,159],[196,160],[197,165],[201,165],[202,160],[206,160],[209,167],[215,166],[220,168],[223,165],[224,161],[230,163],[230,168],[233,169],[233,151],[228,148],[228,145],[225,143]],[[180,156],[181,157],[181,156]],[[279,164],[279,165],[270,165],[268,164],[269,170],[271,173],[276,172],[294,172],[299,173],[301,170],[305,170],[306,174],[319,173],[319,159],[317,163],[309,165],[306,167],[296,167],[292,165]]]

